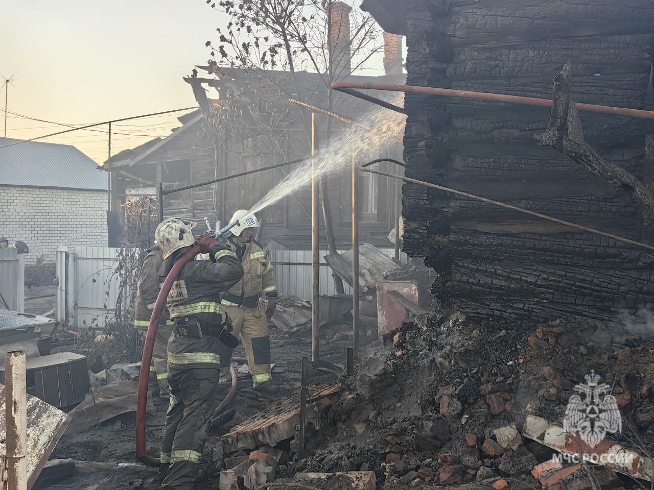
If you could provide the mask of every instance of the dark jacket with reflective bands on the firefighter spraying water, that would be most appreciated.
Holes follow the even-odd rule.
[[[181,255],[183,250],[179,257]],[[169,368],[229,366],[232,349],[218,339],[218,334],[226,327],[220,292],[241,280],[243,267],[231,250],[218,250],[213,260],[215,262],[200,260],[186,263],[168,294],[168,310],[176,325],[168,342]],[[197,332],[198,325],[202,333],[185,335],[187,331]]]

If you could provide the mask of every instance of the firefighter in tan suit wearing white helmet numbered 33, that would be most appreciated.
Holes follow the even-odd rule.
[[[227,242],[243,264],[243,279],[222,293],[222,305],[232,319],[233,334],[241,336],[254,389],[269,391],[272,376],[268,319],[277,306],[277,286],[264,247],[252,238],[259,226],[256,216],[241,209],[230,223],[237,220],[239,224],[231,229]]]

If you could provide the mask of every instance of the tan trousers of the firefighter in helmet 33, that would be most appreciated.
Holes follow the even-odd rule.
[[[252,373],[252,384],[256,387],[270,381],[270,338],[268,336],[268,319],[262,302],[255,308],[224,306],[232,320],[232,335],[241,336],[245,347],[247,363]]]

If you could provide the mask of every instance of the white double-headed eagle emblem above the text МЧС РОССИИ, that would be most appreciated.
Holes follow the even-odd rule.
[[[563,416],[563,429],[568,433],[579,433],[581,439],[594,448],[604,439],[606,433],[622,430],[620,410],[611,395],[611,387],[600,384],[600,376],[591,370],[585,376],[586,384],[575,385],[575,394],[568,400]]]

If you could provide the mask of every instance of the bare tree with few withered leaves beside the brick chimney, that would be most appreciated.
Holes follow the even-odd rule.
[[[364,67],[383,49],[379,43],[381,29],[369,14],[352,8],[351,0],[349,3],[337,0],[222,0],[218,3],[209,0],[207,3],[229,16],[228,24],[216,29],[220,44],[211,41],[206,44],[211,48],[211,70],[220,73],[220,67],[232,67],[255,74],[264,97],[271,96],[273,87],[288,98],[307,101],[318,93],[324,95],[328,110],[332,110],[332,82]],[[336,7],[339,12],[345,7],[349,14],[347,20],[339,18],[335,22]],[[347,29],[347,33],[341,29]],[[289,76],[283,76],[283,72]],[[301,72],[317,76],[300,76]],[[289,115],[287,112],[284,116]],[[298,115],[310,140],[306,114],[300,111]],[[267,137],[278,139],[281,122],[283,119],[277,118],[275,123],[267,125]],[[328,141],[331,135],[329,118],[324,140]],[[322,179],[320,197],[328,248],[330,253],[336,253],[331,206]],[[341,278],[334,275],[334,281],[337,293],[342,294]]]

